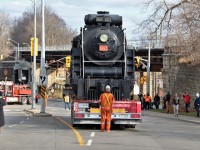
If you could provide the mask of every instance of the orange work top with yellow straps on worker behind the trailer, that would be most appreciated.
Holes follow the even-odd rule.
[[[103,93],[100,96],[101,106],[104,108],[110,108],[114,102],[114,96],[111,93]]]

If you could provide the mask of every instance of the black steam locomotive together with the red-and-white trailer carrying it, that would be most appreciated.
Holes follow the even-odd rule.
[[[85,16],[85,26],[72,41],[71,122],[100,124],[100,94],[110,85],[115,97],[112,123],[135,127],[141,122],[141,102],[131,100],[134,50],[126,46],[122,17],[105,11]]]

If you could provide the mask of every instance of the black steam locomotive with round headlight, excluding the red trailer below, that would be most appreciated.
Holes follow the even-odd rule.
[[[71,85],[78,99],[98,100],[106,85],[116,100],[130,99],[134,51],[126,47],[122,16],[105,11],[86,15],[71,57]]]

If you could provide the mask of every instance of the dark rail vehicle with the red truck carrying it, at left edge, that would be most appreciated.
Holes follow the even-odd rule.
[[[27,61],[0,62],[0,94],[6,103],[32,103],[31,71]]]

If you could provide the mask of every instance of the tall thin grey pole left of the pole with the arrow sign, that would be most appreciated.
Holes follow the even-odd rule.
[[[33,81],[32,81],[32,109],[35,109],[36,89],[36,1],[34,0],[34,52],[33,52]]]

